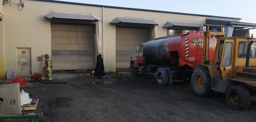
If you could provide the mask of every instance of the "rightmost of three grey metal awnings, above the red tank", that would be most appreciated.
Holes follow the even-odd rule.
[[[174,21],[166,21],[162,27],[170,28],[170,29],[188,29],[190,28],[199,28],[200,25],[197,23],[188,23],[188,22],[174,22]]]

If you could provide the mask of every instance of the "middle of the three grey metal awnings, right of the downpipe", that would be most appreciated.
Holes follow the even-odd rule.
[[[111,20],[109,23],[110,24],[135,23],[135,24],[157,25],[157,23],[149,19],[128,18],[128,17],[116,17],[113,20]]]

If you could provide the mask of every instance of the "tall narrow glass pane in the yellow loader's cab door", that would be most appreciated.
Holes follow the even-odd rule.
[[[224,47],[222,66],[230,66],[232,59],[232,43],[226,42]]]

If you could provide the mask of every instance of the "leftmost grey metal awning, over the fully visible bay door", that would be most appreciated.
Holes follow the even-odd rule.
[[[62,18],[62,19],[78,19],[78,20],[92,20],[100,21],[99,18],[91,14],[78,14],[78,13],[62,13],[62,12],[51,12],[44,15],[48,19]]]

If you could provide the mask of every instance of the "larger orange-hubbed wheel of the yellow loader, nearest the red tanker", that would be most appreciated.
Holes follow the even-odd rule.
[[[213,93],[211,76],[206,67],[196,69],[191,77],[192,88],[198,96],[211,96]]]

